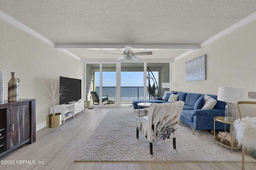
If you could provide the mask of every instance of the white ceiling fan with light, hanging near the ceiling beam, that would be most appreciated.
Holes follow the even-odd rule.
[[[117,53],[106,53],[106,54],[117,54]],[[135,55],[152,55],[152,51],[133,53],[132,47],[126,45],[124,54],[119,54],[119,55],[125,55],[125,56],[120,57],[117,60],[124,59],[125,61],[132,61],[132,60],[140,61],[140,58],[136,57]]]

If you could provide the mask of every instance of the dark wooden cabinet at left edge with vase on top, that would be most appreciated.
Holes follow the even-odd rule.
[[[36,141],[36,100],[0,103],[0,156]]]

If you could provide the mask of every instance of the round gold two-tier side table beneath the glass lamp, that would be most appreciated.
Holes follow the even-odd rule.
[[[231,149],[231,153],[233,153],[233,149],[241,149],[242,147],[238,147],[237,143],[234,143],[234,146],[232,146],[232,138],[231,138],[231,143],[221,143],[220,140],[221,138],[220,137],[215,137],[215,122],[216,121],[219,121],[219,122],[222,122],[222,123],[225,123],[225,129],[224,131],[226,132],[226,124],[230,124],[230,135],[232,136],[232,125],[233,125],[233,121],[226,121],[224,120],[224,117],[214,117],[214,144],[215,142],[217,142],[218,144],[224,146],[224,147],[228,147]]]

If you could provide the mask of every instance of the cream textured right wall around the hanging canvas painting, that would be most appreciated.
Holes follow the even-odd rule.
[[[248,92],[256,92],[255,28],[256,20],[172,63],[172,90],[217,95],[219,86],[244,88],[244,100],[256,101],[248,99]],[[204,54],[206,80],[186,82],[185,62]]]

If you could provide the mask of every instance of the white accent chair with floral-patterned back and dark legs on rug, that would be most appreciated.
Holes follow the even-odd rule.
[[[136,118],[136,137],[139,131],[150,142],[150,154],[153,154],[153,142],[166,139],[173,140],[173,148],[176,149],[176,135],[182,112],[183,101],[175,103],[153,103],[149,107],[148,116]]]

